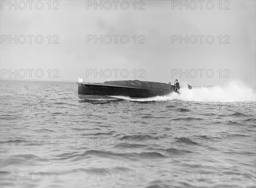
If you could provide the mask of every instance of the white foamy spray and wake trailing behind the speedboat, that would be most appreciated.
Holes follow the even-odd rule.
[[[146,99],[131,99],[129,97],[119,96],[118,98],[132,101],[167,101],[184,100],[199,102],[255,102],[256,91],[253,88],[246,87],[242,83],[230,83],[224,87],[193,87],[191,90],[180,88],[180,94],[172,93],[166,96],[150,97]]]

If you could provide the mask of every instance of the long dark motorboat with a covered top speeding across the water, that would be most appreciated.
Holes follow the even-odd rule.
[[[136,81],[136,83],[133,83]],[[175,92],[173,85],[165,83],[141,82],[139,80],[127,81],[128,84],[116,83],[78,83],[78,97],[80,99],[106,99],[113,100],[115,96],[130,98],[148,98],[163,96]],[[118,82],[118,81],[116,81]],[[120,81],[124,83],[125,81]],[[133,84],[133,85],[132,85]],[[145,84],[160,85],[160,88],[145,88]]]

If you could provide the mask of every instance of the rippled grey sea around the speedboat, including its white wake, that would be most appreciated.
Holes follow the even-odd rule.
[[[235,89],[86,101],[2,80],[0,186],[255,187],[255,90]]]

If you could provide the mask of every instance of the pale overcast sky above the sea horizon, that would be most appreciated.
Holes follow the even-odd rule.
[[[187,1],[187,10],[185,6],[180,8],[175,4],[180,1],[168,0],[137,1],[136,10],[135,3],[132,4],[134,1],[128,1],[129,7],[126,10],[125,3],[122,3],[122,7],[120,5],[122,1],[117,3],[116,10],[113,1],[110,1],[112,8],[109,10],[106,10],[109,7],[107,3],[103,5],[102,10],[99,6],[95,10],[93,5],[90,6],[94,1],[52,1],[51,7],[47,2],[43,2],[44,7],[41,10],[38,10],[40,3],[37,7],[35,3],[32,4],[30,10],[29,3],[25,1],[24,9],[24,4],[18,4],[17,1],[15,10],[15,6],[9,7],[9,1],[1,1],[2,78],[10,78],[6,69],[41,69],[44,76],[39,78],[35,76],[35,71],[32,71],[31,79],[78,81],[78,77],[83,77],[84,81],[88,82],[144,80],[163,83],[174,83],[174,80],[178,79],[182,84],[191,85],[225,85],[232,81],[242,81],[250,87],[255,87],[254,0],[231,0],[226,3],[222,1],[221,7],[219,1],[213,1],[212,9],[210,3],[207,6],[203,3],[200,8],[200,3],[195,1],[195,10],[192,10],[195,3],[190,1]],[[58,10],[53,10],[54,7]],[[144,10],[138,10],[139,7]],[[15,38],[15,35],[17,44],[15,40],[9,41],[9,37]],[[19,37],[20,35],[26,36],[26,43],[22,44],[24,37]],[[34,35],[31,44],[27,35]],[[38,44],[40,38],[37,38],[38,43],[35,42],[37,35],[44,38],[41,44]],[[51,36],[48,37],[49,35]],[[53,37],[54,35],[57,36]],[[88,40],[89,35],[110,35],[112,42],[106,44],[102,40],[101,44],[100,40],[96,40],[95,44],[94,40]],[[122,41],[117,37],[115,43],[113,35],[127,35],[129,41],[125,44],[125,37]],[[186,40],[182,40],[180,44],[179,38],[175,38],[180,35],[184,38],[186,35],[190,37],[187,44]],[[194,42],[195,37],[192,35],[197,36],[197,42]],[[198,35],[204,35],[201,43]],[[214,38],[212,43],[211,36],[206,40],[208,35]],[[58,44],[53,44],[54,40]],[[109,37],[105,37],[105,42],[108,41]],[[49,69],[52,73],[50,78]],[[53,71],[54,69],[58,70]],[[102,77],[100,74],[89,74],[95,69],[98,72],[102,69]],[[111,70],[112,76],[109,76],[107,69]],[[116,77],[113,69],[119,69],[116,71]],[[125,77],[125,69],[129,73],[128,77]],[[187,75],[177,73],[180,69],[183,72],[187,69]],[[197,71],[197,75],[192,69]],[[198,69],[204,69],[201,71],[202,77]],[[206,75],[207,69],[212,69],[212,77],[211,70]],[[125,70],[122,75],[121,70]],[[29,71],[26,73],[24,79],[29,79]],[[19,74],[17,73],[17,78],[23,76],[22,71]],[[59,78],[53,77],[54,74]],[[11,78],[15,78],[15,74],[12,74]]]

